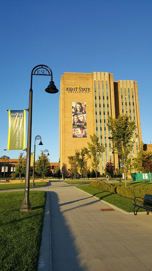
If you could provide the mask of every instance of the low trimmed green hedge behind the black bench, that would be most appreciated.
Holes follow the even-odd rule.
[[[131,196],[132,198],[144,198],[144,195],[146,194],[152,195],[152,188],[147,188],[144,186],[127,186],[125,188],[123,185],[114,185],[106,182],[90,182],[90,186],[116,194],[121,194],[123,196]]]

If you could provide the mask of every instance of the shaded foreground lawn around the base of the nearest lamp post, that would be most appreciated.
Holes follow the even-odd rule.
[[[1,193],[0,270],[36,271],[46,192],[30,192],[32,211],[20,212],[24,192]]]

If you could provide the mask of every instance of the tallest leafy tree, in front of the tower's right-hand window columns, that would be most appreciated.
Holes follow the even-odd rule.
[[[108,128],[111,130],[111,139],[113,141],[113,148],[111,148],[118,157],[121,158],[121,163],[124,168],[125,175],[125,187],[126,187],[126,160],[128,155],[133,149],[132,134],[136,128],[135,122],[130,121],[130,117],[127,115],[120,115],[118,118],[112,118],[108,115]]]

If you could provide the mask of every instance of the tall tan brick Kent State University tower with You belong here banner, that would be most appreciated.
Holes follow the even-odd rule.
[[[113,145],[108,139],[111,132],[106,125],[107,114],[113,118],[117,118],[120,114],[127,114],[131,121],[135,120],[137,128],[132,135],[135,143],[130,155],[136,157],[142,140],[137,82],[114,81],[113,74],[108,72],[64,73],[61,76],[59,97],[61,166],[65,163],[69,169],[68,156],[74,155],[75,149],[87,147],[90,135],[96,134],[101,145],[105,146],[98,173],[101,175],[104,173],[105,165],[110,158],[114,161],[117,171],[118,155],[111,151]]]

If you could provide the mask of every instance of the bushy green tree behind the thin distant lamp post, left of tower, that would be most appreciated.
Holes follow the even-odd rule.
[[[43,164],[44,163],[44,164]],[[38,155],[38,160],[35,161],[35,172],[38,174],[43,174],[44,167],[44,176],[50,175],[50,160],[46,154],[41,150],[41,155]]]

